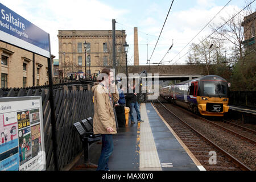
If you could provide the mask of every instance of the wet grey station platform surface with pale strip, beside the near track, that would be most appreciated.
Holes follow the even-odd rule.
[[[141,104],[141,119],[144,122],[135,121],[135,124],[131,124],[129,119],[129,125],[119,127],[118,133],[113,135],[114,151],[109,158],[111,171],[205,170],[151,103]],[[97,164],[101,143],[92,144],[89,152],[90,162]],[[81,154],[70,170],[96,170],[80,168],[83,162]]]

